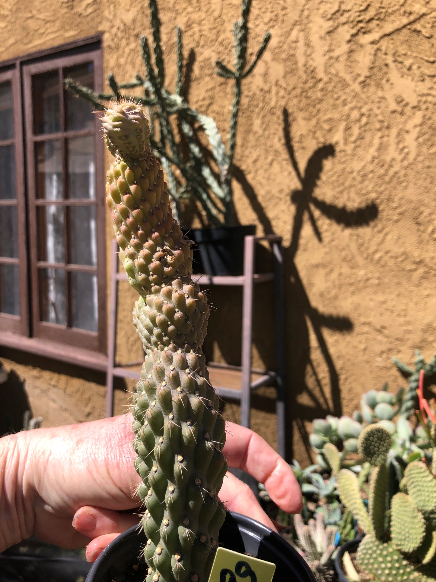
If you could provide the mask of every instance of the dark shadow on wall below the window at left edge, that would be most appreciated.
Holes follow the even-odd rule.
[[[0,437],[22,430],[27,411],[30,403],[24,382],[11,370],[6,382],[0,384]]]

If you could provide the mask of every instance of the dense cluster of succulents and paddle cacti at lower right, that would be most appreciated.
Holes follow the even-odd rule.
[[[313,421],[316,464],[292,464],[301,515],[277,510],[259,486],[281,535],[319,582],[434,579],[436,416],[423,383],[436,375],[436,358],[426,363],[417,352],[414,369],[394,362],[406,390],[394,394],[385,384],[364,393],[353,417]]]

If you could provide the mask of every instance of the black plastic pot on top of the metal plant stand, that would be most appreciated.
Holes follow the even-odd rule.
[[[207,275],[242,275],[244,272],[244,237],[256,233],[255,225],[193,228],[188,235],[198,248],[201,268]],[[194,258],[195,258],[194,252]]]

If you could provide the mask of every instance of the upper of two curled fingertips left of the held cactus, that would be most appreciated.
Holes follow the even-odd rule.
[[[73,517],[73,527],[88,538],[126,531],[138,524],[139,518],[133,513],[119,513],[111,509],[84,506]]]

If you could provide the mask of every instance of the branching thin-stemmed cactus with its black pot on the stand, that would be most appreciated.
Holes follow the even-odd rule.
[[[194,272],[209,275],[240,275],[243,269],[244,237],[255,234],[254,225],[240,225],[235,212],[231,179],[236,143],[238,116],[241,102],[242,80],[249,76],[265,51],[270,40],[266,33],[253,59],[247,65],[248,17],[251,0],[242,0],[241,20],[234,24],[234,70],[216,61],[216,74],[231,79],[234,84],[233,105],[228,132],[228,145],[224,145],[215,120],[199,113],[185,100],[185,78],[181,30],[177,27],[177,77],[174,92],[165,86],[165,64],[160,44],[160,21],[156,0],[149,0],[153,31],[152,55],[146,37],[142,37],[142,58],[146,78],[139,74],[130,83],[117,84],[109,75],[110,94],[97,94],[71,79],[66,86],[78,96],[90,101],[95,108],[105,107],[103,101],[127,99],[147,108],[152,151],[165,171],[167,191],[173,204],[174,217],[183,224],[184,205],[194,201],[198,217],[204,228],[183,226],[183,232],[194,239]],[[143,95],[126,94],[126,90],[141,88]],[[177,135],[174,128],[177,127]],[[206,143],[207,142],[207,143]]]

